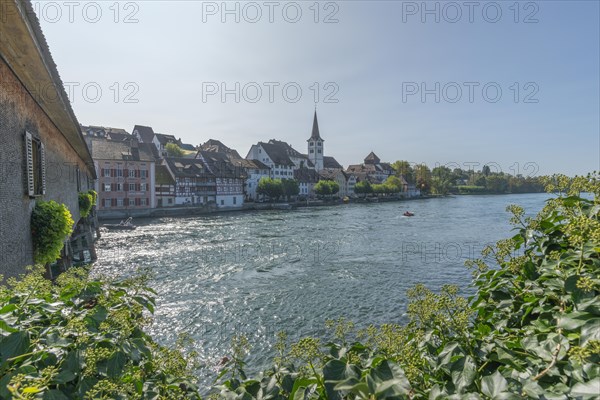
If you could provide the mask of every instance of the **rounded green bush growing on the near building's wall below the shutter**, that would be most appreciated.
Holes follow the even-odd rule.
[[[31,214],[31,237],[34,260],[47,264],[60,257],[64,240],[73,231],[71,212],[53,200],[38,201]]]

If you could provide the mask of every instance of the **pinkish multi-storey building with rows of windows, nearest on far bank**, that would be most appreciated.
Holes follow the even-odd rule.
[[[90,137],[98,180],[98,211],[156,207],[155,159],[151,145]]]

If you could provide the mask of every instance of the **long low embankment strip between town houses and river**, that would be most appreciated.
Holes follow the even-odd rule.
[[[241,212],[241,211],[263,211],[263,210],[291,210],[303,207],[328,207],[342,206],[346,204],[373,204],[385,202],[403,202],[413,200],[425,200],[447,196],[426,195],[418,197],[365,197],[350,199],[345,203],[342,200],[309,200],[296,202],[273,202],[273,203],[244,203],[242,207],[217,208],[215,204],[210,205],[189,205],[169,208],[145,208],[145,209],[126,209],[126,210],[98,210],[98,220],[122,220],[132,218],[163,218],[163,217],[187,217],[195,215],[210,215],[223,212]]]

